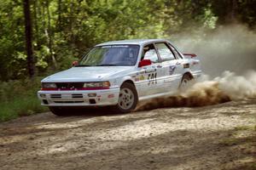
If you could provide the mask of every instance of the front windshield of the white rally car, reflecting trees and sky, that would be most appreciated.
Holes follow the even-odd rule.
[[[77,66],[135,65],[138,45],[108,45],[92,48]]]

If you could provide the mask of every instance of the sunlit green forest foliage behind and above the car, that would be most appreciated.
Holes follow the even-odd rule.
[[[233,3],[232,3],[233,2]],[[236,4],[234,3],[236,2]],[[23,1],[0,0],[0,80],[27,77]],[[30,0],[38,75],[63,70],[96,43],[215,29],[231,15],[255,26],[255,1]],[[9,12],[11,11],[11,13]]]

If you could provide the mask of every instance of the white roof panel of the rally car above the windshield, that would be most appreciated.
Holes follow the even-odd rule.
[[[145,43],[150,42],[166,42],[165,39],[131,39],[131,40],[120,40],[120,41],[113,41],[113,42],[103,42],[97,44],[96,46],[104,46],[104,45],[121,45],[121,44],[134,44],[134,45],[143,45]]]

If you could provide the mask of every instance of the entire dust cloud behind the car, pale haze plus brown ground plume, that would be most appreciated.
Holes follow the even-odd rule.
[[[225,26],[211,34],[181,33],[174,44],[197,54],[205,75],[175,96],[143,101],[137,111],[200,107],[256,98],[256,34],[245,26]]]

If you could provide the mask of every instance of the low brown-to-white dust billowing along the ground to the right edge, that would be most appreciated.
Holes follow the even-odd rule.
[[[212,80],[204,76],[199,82],[194,82],[175,96],[143,101],[136,111],[164,107],[200,107],[249,98],[256,98],[256,71],[247,71],[244,76],[224,71],[221,77]]]

